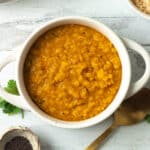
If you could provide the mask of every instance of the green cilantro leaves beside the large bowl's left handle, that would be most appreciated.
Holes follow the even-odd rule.
[[[4,90],[7,91],[10,94],[19,95],[16,81],[15,80],[9,80],[7,83],[7,86],[4,87]],[[2,109],[3,113],[8,115],[16,115],[21,114],[22,118],[24,117],[24,112],[21,108],[18,108],[8,102],[6,102],[5,99],[0,97],[0,108]]]

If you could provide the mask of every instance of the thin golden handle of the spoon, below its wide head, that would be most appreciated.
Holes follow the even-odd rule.
[[[102,135],[97,137],[85,150],[96,150],[100,144],[112,133],[118,126],[113,123]]]

